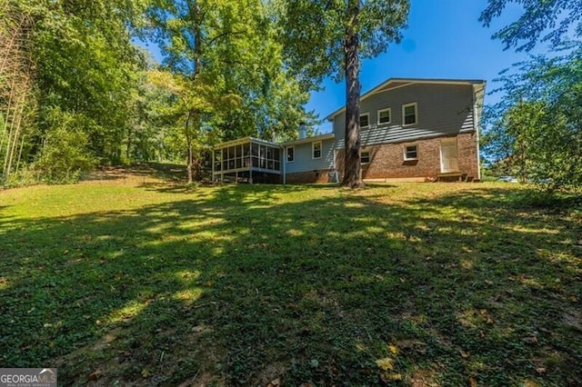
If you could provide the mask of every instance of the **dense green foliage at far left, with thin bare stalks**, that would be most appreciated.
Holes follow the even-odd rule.
[[[10,66],[0,69],[3,81],[0,83],[0,111],[5,102],[6,84],[17,84],[13,89],[23,95],[17,100],[6,100],[24,101],[22,109],[13,110],[25,113],[10,115],[14,117],[10,123],[12,138],[20,136],[18,141],[13,140],[10,152],[6,151],[8,156],[15,158],[12,169],[36,160],[35,172],[50,174],[39,176],[40,179],[62,179],[60,172],[44,164],[48,163],[44,160],[55,161],[58,154],[53,148],[44,149],[45,146],[55,147],[55,138],[71,140],[74,143],[71,149],[86,148],[103,163],[122,161],[122,145],[132,118],[127,114],[128,105],[138,84],[136,74],[144,67],[142,56],[129,35],[131,26],[141,21],[141,5],[141,0],[93,1],[90,4],[33,0],[0,2],[0,15],[9,16],[0,17],[1,55],[9,59],[2,62],[3,66],[10,65],[14,58],[16,63],[30,61],[33,64],[27,72],[6,71]],[[20,22],[20,27],[16,28],[19,21],[26,23]],[[17,45],[4,45],[13,41]],[[14,46],[18,46],[19,51],[9,52]],[[69,124],[55,120],[55,112],[62,114],[65,121],[73,117],[75,128],[70,129]],[[65,134],[65,130],[74,130],[74,133]],[[81,144],[83,142],[86,144]],[[19,144],[19,149],[15,144]],[[76,160],[76,164],[58,165],[56,170],[85,168],[80,165],[84,164],[80,157],[72,154],[65,157],[64,163]],[[41,161],[42,168],[38,169]]]

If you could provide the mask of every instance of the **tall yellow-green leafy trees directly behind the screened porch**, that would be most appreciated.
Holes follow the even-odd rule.
[[[152,2],[146,33],[165,55],[152,81],[175,96],[164,114],[181,125],[190,178],[212,145],[241,136],[288,138],[312,118],[289,76],[271,11],[260,0]]]

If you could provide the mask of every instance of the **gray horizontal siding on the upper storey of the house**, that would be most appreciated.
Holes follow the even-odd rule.
[[[402,105],[417,104],[416,124],[402,126]],[[377,112],[391,108],[391,123],[377,124]],[[370,126],[362,129],[362,146],[414,141],[474,130],[473,88],[470,84],[410,84],[368,96],[360,114],[370,115]],[[343,149],[346,112],[334,118],[336,149]]]

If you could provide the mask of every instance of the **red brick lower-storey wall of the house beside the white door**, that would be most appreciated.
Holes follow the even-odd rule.
[[[370,152],[370,163],[362,165],[362,178],[424,178],[426,180],[437,180],[441,174],[441,138],[443,137],[363,148]],[[455,138],[455,136],[447,138]],[[404,152],[406,145],[414,144],[417,145],[417,160],[405,161]],[[458,173],[467,180],[477,180],[479,176],[477,134],[458,134],[457,150]],[[343,174],[344,151],[337,152],[336,170],[340,174]]]

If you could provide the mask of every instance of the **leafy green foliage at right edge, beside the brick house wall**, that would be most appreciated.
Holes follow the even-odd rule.
[[[494,163],[547,192],[582,189],[582,44],[564,48],[500,78],[505,96],[485,136]]]

